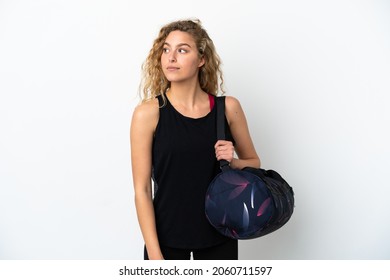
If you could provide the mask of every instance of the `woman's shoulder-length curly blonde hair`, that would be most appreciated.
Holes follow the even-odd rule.
[[[213,95],[225,92],[223,89],[221,59],[215,50],[213,41],[202,27],[200,20],[179,20],[161,28],[147,59],[142,64],[142,80],[140,84],[142,102],[155,98],[158,95],[163,95],[170,87],[170,82],[165,78],[162,71],[161,55],[165,39],[169,33],[176,30],[190,34],[195,41],[199,56],[204,57],[205,64],[199,71],[199,84],[202,90]]]

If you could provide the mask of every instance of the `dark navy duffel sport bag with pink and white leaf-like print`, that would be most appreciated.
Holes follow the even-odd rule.
[[[225,98],[216,98],[217,136],[225,139]],[[220,161],[222,172],[210,183],[205,212],[210,224],[233,239],[253,239],[281,228],[294,211],[294,192],[274,170],[232,169]]]

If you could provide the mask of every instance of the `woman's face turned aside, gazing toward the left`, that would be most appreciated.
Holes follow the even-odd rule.
[[[198,79],[199,68],[204,58],[199,57],[198,48],[190,34],[172,31],[165,39],[161,66],[171,83],[183,83]]]

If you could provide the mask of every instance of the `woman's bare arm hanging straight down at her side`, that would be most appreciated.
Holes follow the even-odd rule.
[[[131,166],[135,207],[149,259],[163,259],[152,200],[152,142],[159,119],[158,100],[138,105],[130,127]]]

